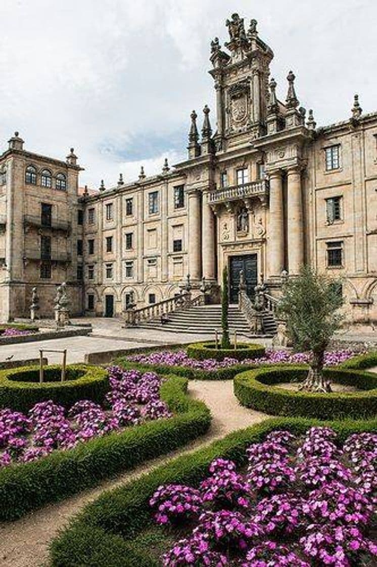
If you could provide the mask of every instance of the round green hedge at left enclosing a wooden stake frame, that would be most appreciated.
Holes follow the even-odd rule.
[[[45,367],[45,378],[50,381],[42,384],[38,382],[39,366],[1,370],[0,408],[27,412],[34,404],[46,400],[67,408],[83,399],[102,403],[109,390],[108,373],[97,366],[68,365],[65,382],[60,382],[60,377],[59,365]]]

